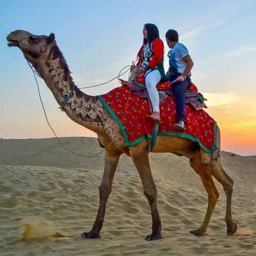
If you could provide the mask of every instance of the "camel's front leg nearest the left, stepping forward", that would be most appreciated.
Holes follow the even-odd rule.
[[[105,169],[102,177],[101,184],[99,186],[99,208],[97,212],[96,220],[93,224],[92,230],[82,234],[82,238],[100,238],[100,230],[103,225],[106,202],[112,189],[113,178],[115,175],[117,163],[120,154],[105,151]]]

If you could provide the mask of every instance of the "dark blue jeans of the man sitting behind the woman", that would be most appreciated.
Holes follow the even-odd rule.
[[[188,86],[190,86],[191,80],[190,77],[186,77],[183,82],[175,82],[172,84],[173,93],[176,102],[176,122],[184,121],[186,122],[185,115],[185,95],[184,92]]]

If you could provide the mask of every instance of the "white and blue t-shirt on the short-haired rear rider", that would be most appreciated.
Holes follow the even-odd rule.
[[[169,56],[169,72],[170,75],[176,75],[178,73],[183,73],[187,63],[183,60],[185,56],[189,55],[187,48],[181,44],[180,42],[177,42],[175,47],[170,51]],[[191,76],[191,72],[188,74]]]

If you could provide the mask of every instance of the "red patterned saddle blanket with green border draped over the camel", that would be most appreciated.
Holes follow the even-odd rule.
[[[162,87],[165,83],[162,83]],[[127,146],[151,139],[154,122],[148,118],[152,114],[147,98],[136,96],[127,86],[115,88],[109,93],[99,96],[106,109],[117,121]],[[178,136],[198,142],[207,153],[216,150],[217,125],[204,110],[196,110],[191,104],[186,104],[186,129],[177,132],[173,125],[176,123],[176,108],[174,96],[165,98],[160,104],[161,121],[158,135]]]

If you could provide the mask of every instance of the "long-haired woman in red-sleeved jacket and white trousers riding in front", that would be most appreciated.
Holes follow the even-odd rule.
[[[159,30],[156,25],[147,23],[143,28],[143,45],[138,52],[138,71],[145,72],[144,79],[148,96],[153,106],[154,121],[160,121],[159,94],[157,84],[164,77],[163,68],[163,41],[159,38]],[[133,69],[133,67],[131,68]],[[122,84],[126,84],[121,80]]]

